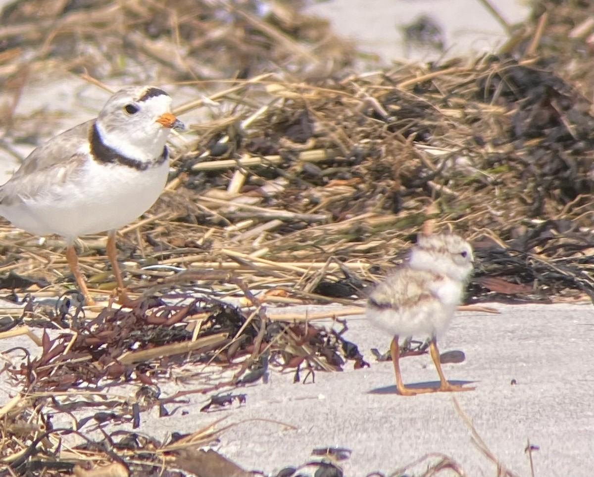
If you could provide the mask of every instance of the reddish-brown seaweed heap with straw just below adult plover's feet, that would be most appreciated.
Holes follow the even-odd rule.
[[[31,309],[27,307],[11,326],[22,322]],[[103,308],[94,318],[84,317],[80,306],[61,309],[63,314],[53,323],[64,326],[68,321],[75,332],[65,330],[54,339],[44,333],[40,356],[26,353],[20,366],[8,368],[28,392],[97,389],[113,380],[152,386],[172,367],[186,364],[214,363],[235,371],[223,384],[205,385],[202,392],[258,381],[269,365],[295,370],[295,381],[301,380],[302,366],[312,379],[315,371],[342,370],[347,359],[355,368],[368,366],[356,345],[343,339],[344,323],[338,332],[270,321],[264,308],[238,308],[216,298],[150,296],[130,308]]]

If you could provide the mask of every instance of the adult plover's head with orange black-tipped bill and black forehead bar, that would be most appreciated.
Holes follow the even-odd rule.
[[[171,129],[184,124],[171,113],[171,98],[153,86],[130,86],[109,98],[97,116],[97,132],[105,146],[142,162],[163,153]]]

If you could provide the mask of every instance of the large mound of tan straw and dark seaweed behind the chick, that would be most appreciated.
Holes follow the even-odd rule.
[[[592,296],[594,117],[546,62],[493,56],[268,91],[273,104],[235,146],[217,147],[225,131],[204,135],[180,168],[191,178],[178,197],[201,210],[176,220],[225,234],[195,248],[193,266],[242,254],[235,270],[251,268],[251,283],[298,261],[318,266],[295,276],[292,293],[319,292],[320,280],[364,284],[432,220],[475,242],[477,298],[510,294],[482,277],[525,286],[511,293],[522,299]],[[171,241],[174,230],[170,219]],[[258,250],[266,265],[249,257]]]

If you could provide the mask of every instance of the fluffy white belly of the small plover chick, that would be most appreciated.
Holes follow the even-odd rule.
[[[392,335],[406,337],[440,337],[454,317],[456,305],[425,302],[409,309],[368,308],[367,318]]]

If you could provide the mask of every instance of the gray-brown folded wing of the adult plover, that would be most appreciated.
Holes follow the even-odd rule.
[[[49,140],[27,156],[6,184],[0,187],[0,204],[35,197],[61,184],[80,168],[81,144],[89,140],[94,119],[79,124]]]

